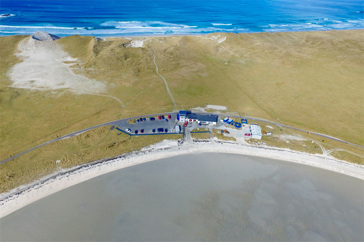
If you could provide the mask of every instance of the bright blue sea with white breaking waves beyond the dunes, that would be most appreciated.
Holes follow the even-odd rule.
[[[364,29],[363,0],[1,0],[0,36]]]

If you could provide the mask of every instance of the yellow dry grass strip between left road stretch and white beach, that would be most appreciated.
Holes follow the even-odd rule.
[[[104,126],[79,136],[60,140],[26,153],[1,165],[0,193],[30,183],[61,168],[69,168],[101,158],[138,151],[164,139],[182,135],[128,136],[117,135],[111,126]],[[58,162],[57,162],[58,161]]]

